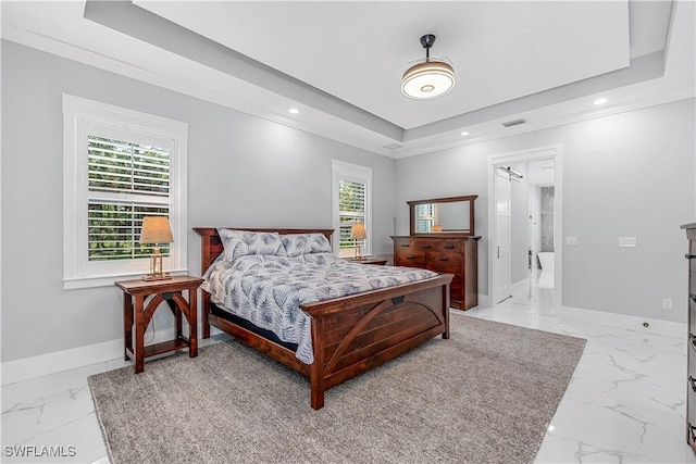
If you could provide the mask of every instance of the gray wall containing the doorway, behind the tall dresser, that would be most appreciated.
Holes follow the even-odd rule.
[[[487,294],[488,156],[561,143],[562,234],[577,237],[577,247],[556,243],[561,303],[685,322],[680,225],[696,218],[694,127],[687,99],[398,160],[397,231],[408,234],[408,200],[477,193],[478,290]],[[638,246],[619,248],[620,236]],[[674,310],[662,310],[662,298]]]

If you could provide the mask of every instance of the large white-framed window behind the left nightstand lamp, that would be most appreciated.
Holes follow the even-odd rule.
[[[63,96],[65,289],[149,271],[145,216],[167,216],[163,266],[185,271],[187,125]]]

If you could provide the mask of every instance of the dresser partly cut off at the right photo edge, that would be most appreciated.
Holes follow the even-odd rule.
[[[688,342],[686,348],[686,441],[696,451],[696,223],[682,226],[688,248]]]

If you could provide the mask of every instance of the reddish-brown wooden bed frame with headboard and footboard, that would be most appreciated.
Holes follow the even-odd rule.
[[[328,240],[333,234],[332,229],[231,228],[279,234],[319,233]],[[195,227],[194,230],[201,236],[202,275],[222,253],[223,246],[215,228]],[[427,280],[300,305],[312,318],[314,363],[311,365],[295,358],[293,350],[212,314],[210,294],[206,291],[201,299],[203,338],[209,338],[210,326],[215,326],[308,376],[311,406],[319,410],[324,405],[324,392],[330,388],[437,335],[449,338],[451,279],[451,274],[442,274]]]

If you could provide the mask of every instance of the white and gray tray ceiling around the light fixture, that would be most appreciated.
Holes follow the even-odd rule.
[[[2,2],[4,39],[391,158],[694,97],[694,22],[693,1]],[[417,101],[424,34],[457,85]]]

